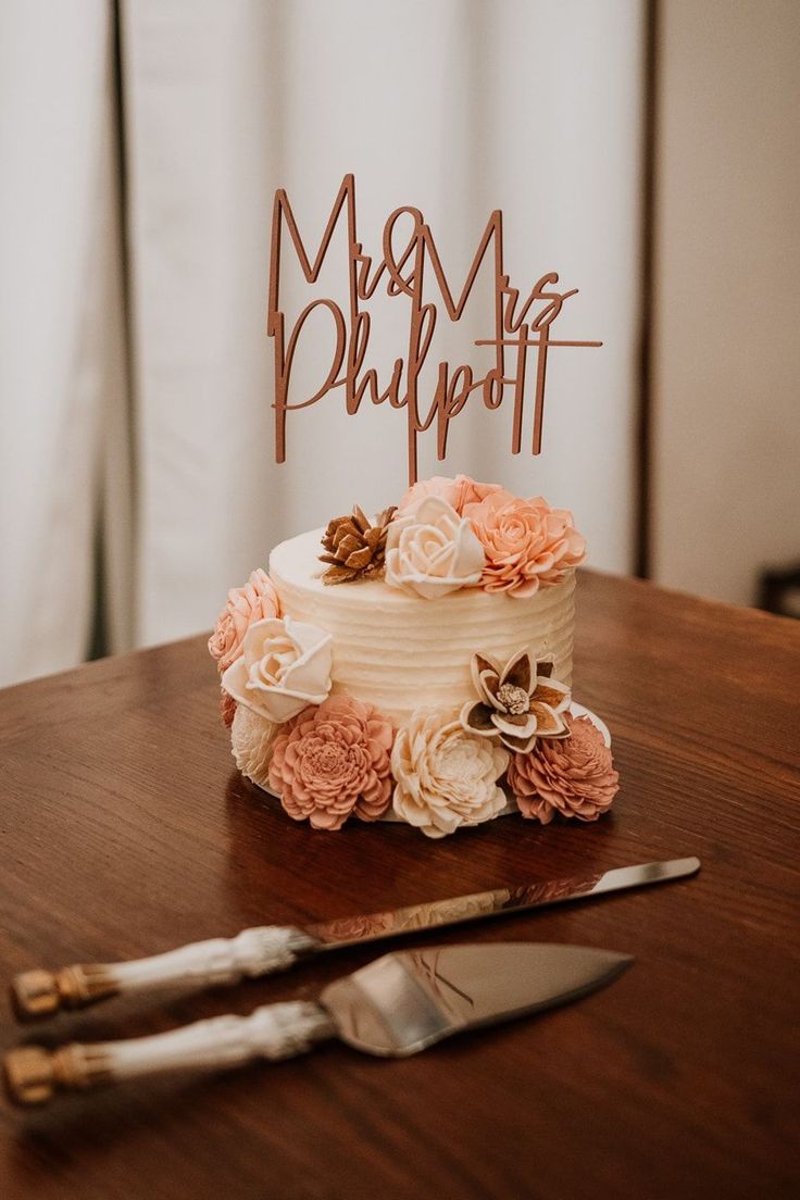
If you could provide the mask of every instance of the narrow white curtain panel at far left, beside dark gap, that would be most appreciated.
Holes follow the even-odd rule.
[[[131,641],[112,10],[0,5],[0,684]],[[108,470],[106,469],[108,468]]]

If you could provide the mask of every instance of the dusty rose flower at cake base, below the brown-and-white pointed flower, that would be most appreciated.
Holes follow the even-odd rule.
[[[570,736],[541,738],[530,754],[516,754],[506,781],[524,817],[549,824],[557,814],[596,821],[619,791],[612,752],[587,716],[565,714]]]

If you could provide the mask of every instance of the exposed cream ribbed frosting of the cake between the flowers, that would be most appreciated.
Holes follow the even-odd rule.
[[[505,661],[525,647],[572,682],[575,574],[527,599],[480,588],[421,600],[383,580],[326,586],[321,529],[281,542],[270,575],[282,612],[333,635],[333,692],[374,704],[396,724],[419,707],[461,706],[473,695],[476,652]]]

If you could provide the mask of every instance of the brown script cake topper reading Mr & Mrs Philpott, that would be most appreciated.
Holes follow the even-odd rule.
[[[347,314],[333,300],[311,300],[301,311],[287,338],[285,314],[281,311],[281,246],[283,227],[289,230],[291,245],[307,283],[319,278],[333,230],[345,212],[348,238],[348,293]],[[395,228],[401,217],[410,217],[411,234],[402,248],[395,252]],[[494,347],[494,365],[480,378],[473,368],[462,364],[455,368],[449,362],[439,364],[438,380],[427,412],[419,394],[419,377],[422,371],[437,326],[438,307],[423,299],[425,269],[429,265],[441,302],[450,320],[456,322],[467,305],[475,277],[483,258],[492,250],[494,259],[494,336],[480,338],[476,346]],[[511,287],[510,276],[503,265],[503,214],[495,210],[481,235],[473,264],[464,286],[453,298],[445,276],[441,259],[431,233],[419,209],[403,206],[395,209],[384,226],[383,258],[373,266],[373,258],[365,254],[356,235],[355,178],[345,175],[338,190],[317,256],[312,262],[297,229],[289,197],[281,188],[275,194],[272,209],[272,240],[270,259],[270,298],[266,332],[275,338],[275,452],[277,462],[285,462],[287,413],[308,408],[335,388],[344,389],[344,404],[349,414],[357,413],[365,396],[373,404],[389,401],[391,408],[405,408],[408,431],[408,478],[416,482],[417,437],[435,421],[437,457],[441,461],[447,452],[450,421],[457,416],[469,396],[480,391],[487,408],[495,409],[503,403],[506,388],[513,389],[513,424],[511,452],[522,450],[522,430],[525,406],[525,382],[534,374],[528,371],[528,352],[536,350],[534,385],[534,436],[531,454],[542,449],[542,419],[545,413],[545,378],[547,356],[552,347],[602,346],[602,342],[557,341],[551,336],[551,326],[561,312],[565,300],[577,295],[578,289],[560,292],[555,271],[548,271],[534,283],[525,300],[519,305],[519,289]],[[360,308],[362,301],[374,295],[385,277],[389,296],[407,296],[410,301],[408,331],[408,355],[395,360],[391,378],[381,389],[378,371],[363,368],[369,343],[371,317]],[[541,307],[536,307],[541,306]],[[289,400],[289,382],[297,341],[312,312],[326,308],[336,334],[336,347],[325,379],[312,396]],[[513,372],[506,374],[506,350],[516,352]]]

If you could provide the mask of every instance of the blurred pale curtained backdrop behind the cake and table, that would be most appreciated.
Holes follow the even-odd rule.
[[[455,286],[500,208],[512,282],[558,271],[554,336],[604,343],[551,355],[540,457],[479,401],[422,475],[800,613],[799,64],[796,0],[2,0],[0,683],[207,629],[275,542],[402,493],[404,414],[337,392],[273,457],[272,196],[315,247],[347,172],[367,253],[415,205]],[[488,334],[485,295],[437,361]],[[379,306],[371,365],[407,336]]]

